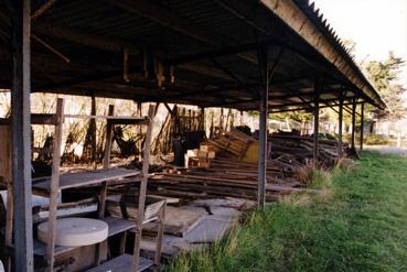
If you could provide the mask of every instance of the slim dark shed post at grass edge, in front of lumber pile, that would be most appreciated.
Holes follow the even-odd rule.
[[[266,204],[266,174],[267,174],[267,116],[268,116],[268,47],[258,52],[258,62],[261,73],[263,88],[260,90],[260,115],[259,115],[259,150],[258,150],[258,184],[257,207],[265,208]]]

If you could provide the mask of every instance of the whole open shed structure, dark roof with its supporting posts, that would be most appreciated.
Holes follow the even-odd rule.
[[[352,106],[353,123],[357,105],[362,117],[365,104],[386,108],[309,0],[2,0],[0,88],[11,89],[17,271],[33,271],[30,93],[259,110],[260,208],[269,113],[312,111],[318,135],[321,108],[339,106],[342,121]]]

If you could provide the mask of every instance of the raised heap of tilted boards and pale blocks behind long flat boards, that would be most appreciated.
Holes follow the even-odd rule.
[[[347,144],[343,144],[345,153]],[[299,167],[312,159],[313,139],[296,132],[277,132],[268,137],[268,159]],[[211,159],[227,157],[242,162],[257,163],[258,141],[238,130],[218,131],[212,139],[201,144],[191,160],[191,166],[208,166]],[[207,160],[203,160],[207,159]],[[339,159],[338,141],[319,140],[319,162],[323,166],[332,166]]]

